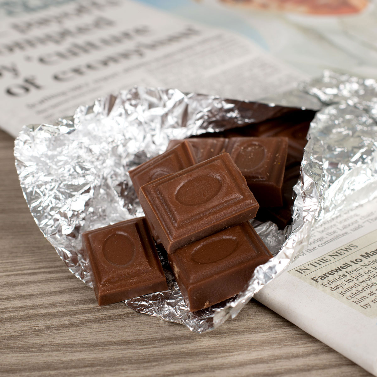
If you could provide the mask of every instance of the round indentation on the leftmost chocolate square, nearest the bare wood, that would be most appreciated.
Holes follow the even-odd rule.
[[[125,266],[135,254],[135,244],[126,234],[113,233],[103,243],[102,253],[107,262]]]

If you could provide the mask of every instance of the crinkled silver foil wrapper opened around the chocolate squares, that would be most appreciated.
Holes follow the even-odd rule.
[[[214,329],[235,317],[307,247],[321,213],[376,195],[376,87],[374,80],[326,71],[301,84],[300,92],[273,100],[320,111],[294,187],[293,224],[279,231],[271,222],[252,222],[274,257],[257,267],[245,291],[191,313],[160,253],[169,291],[126,300],[126,305],[198,333]],[[40,230],[75,276],[92,286],[81,247],[84,231],[143,215],[127,171],[164,152],[169,139],[221,131],[214,126],[221,120],[242,125],[254,118],[231,100],[136,87],[81,106],[72,118],[23,127],[14,150],[23,194]]]

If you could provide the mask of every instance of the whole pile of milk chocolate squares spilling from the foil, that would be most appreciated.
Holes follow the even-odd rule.
[[[99,305],[168,289],[155,242],[190,311],[239,293],[272,257],[248,220],[283,205],[287,152],[286,137],[192,138],[131,170],[146,217],[83,234]]]

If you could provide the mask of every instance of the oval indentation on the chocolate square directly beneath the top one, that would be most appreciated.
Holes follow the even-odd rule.
[[[210,239],[194,249],[191,259],[198,264],[218,262],[234,253],[237,247],[238,241],[235,238]]]

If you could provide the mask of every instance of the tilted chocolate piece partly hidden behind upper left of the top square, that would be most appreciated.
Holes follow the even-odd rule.
[[[165,175],[179,172],[196,164],[192,146],[187,141],[181,141],[174,148],[158,155],[129,171],[136,195],[144,184]]]

